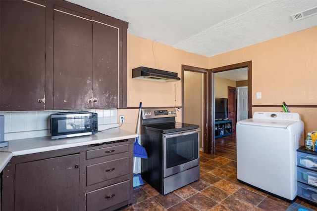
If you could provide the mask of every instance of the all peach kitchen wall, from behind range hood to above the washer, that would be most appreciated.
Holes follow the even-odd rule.
[[[161,83],[132,79],[132,69],[139,66],[177,72],[181,77],[181,65],[200,68],[216,68],[245,61],[252,61],[252,104],[317,105],[317,27],[292,33],[266,42],[233,50],[212,57],[205,57],[154,41],[128,35],[127,87],[128,107],[119,109],[125,115],[122,129],[135,131],[138,109],[143,107],[181,106],[181,82]],[[262,92],[262,99],[256,99]],[[317,130],[316,108],[292,108],[305,125],[305,130]],[[255,111],[282,111],[282,107],[253,107]],[[181,121],[181,112],[177,113]],[[118,121],[119,122],[119,121]]]

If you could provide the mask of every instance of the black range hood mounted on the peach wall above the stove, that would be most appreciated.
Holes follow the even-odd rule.
[[[177,73],[148,67],[138,67],[132,69],[132,78],[157,82],[176,82],[180,80],[180,78],[177,77]]]

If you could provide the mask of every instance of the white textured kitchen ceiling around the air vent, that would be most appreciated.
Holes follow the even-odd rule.
[[[128,34],[213,56],[317,25],[317,0],[67,0],[129,23]]]

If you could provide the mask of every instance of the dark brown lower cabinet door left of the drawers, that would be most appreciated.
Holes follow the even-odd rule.
[[[79,162],[75,154],[17,164],[14,210],[78,211]]]

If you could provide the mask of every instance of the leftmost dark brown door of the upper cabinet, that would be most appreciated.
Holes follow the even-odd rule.
[[[0,1],[0,110],[44,110],[44,1]],[[41,100],[42,99],[42,100]]]

